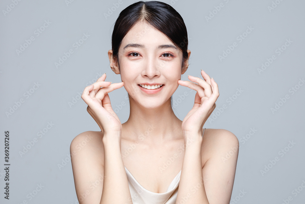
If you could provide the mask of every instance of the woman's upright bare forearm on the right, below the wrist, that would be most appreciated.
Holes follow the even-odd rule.
[[[209,204],[202,177],[202,136],[192,136],[192,138],[188,140],[191,142],[185,145],[176,204]]]

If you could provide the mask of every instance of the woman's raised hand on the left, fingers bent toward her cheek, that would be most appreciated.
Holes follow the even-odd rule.
[[[114,113],[108,93],[123,87],[124,82],[111,83],[105,81],[106,73],[95,83],[86,87],[81,98],[88,105],[87,111],[101,128],[102,133],[121,133],[122,124]],[[102,87],[102,88],[101,88]]]

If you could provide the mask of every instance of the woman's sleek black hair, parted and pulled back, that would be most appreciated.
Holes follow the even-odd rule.
[[[139,21],[151,24],[181,49],[183,67],[188,59],[188,33],[185,23],[173,7],[158,1],[136,2],[121,11],[112,33],[113,59],[118,61],[118,51],[124,36]]]

